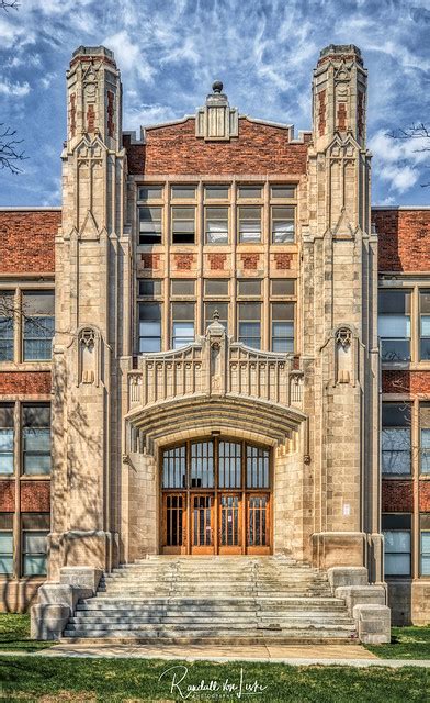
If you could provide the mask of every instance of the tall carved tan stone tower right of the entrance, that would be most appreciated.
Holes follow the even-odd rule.
[[[377,249],[370,230],[366,70],[328,46],[313,82],[308,226],[303,233],[305,411],[315,481],[313,558],[372,566],[378,523]],[[376,545],[376,547],[374,547]]]

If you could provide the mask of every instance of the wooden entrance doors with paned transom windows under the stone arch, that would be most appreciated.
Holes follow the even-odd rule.
[[[228,437],[161,450],[161,554],[270,554],[268,447]]]

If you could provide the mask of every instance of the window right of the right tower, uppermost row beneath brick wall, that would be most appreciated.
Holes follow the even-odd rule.
[[[378,334],[382,360],[410,360],[410,291],[380,291]]]

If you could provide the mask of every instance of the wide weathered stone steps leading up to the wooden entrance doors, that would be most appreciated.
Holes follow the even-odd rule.
[[[286,557],[151,556],[105,574],[63,640],[355,643],[325,573]]]

